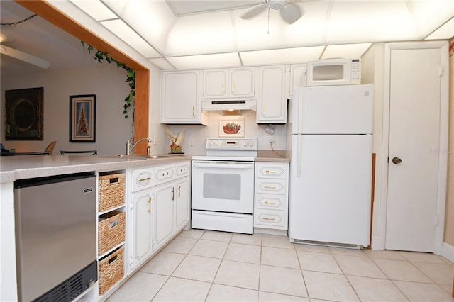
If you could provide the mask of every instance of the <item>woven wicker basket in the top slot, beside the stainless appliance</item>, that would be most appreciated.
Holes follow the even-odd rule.
[[[121,206],[125,203],[125,174],[99,175],[98,211]]]

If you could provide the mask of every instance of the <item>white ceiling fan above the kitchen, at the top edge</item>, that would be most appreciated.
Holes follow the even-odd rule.
[[[248,9],[248,11],[245,11],[240,17],[249,19],[257,16],[263,11],[268,10],[268,13],[270,13],[270,9],[274,9],[275,11],[279,11],[282,20],[292,24],[301,18],[303,11],[301,11],[297,5],[290,2],[292,2],[292,0],[263,0],[263,4],[253,6]]]

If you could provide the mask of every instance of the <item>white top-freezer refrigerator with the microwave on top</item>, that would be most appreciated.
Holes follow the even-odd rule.
[[[291,242],[370,244],[373,85],[294,89]]]

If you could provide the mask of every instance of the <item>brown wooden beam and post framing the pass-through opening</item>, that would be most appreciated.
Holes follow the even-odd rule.
[[[148,99],[150,95],[150,70],[143,67],[140,63],[133,60],[128,55],[125,55],[120,50],[117,50],[113,45],[106,43],[96,34],[92,33],[81,24],[74,21],[69,16],[55,9],[54,6],[48,4],[45,0],[14,0],[16,3],[26,9],[38,14],[41,18],[49,21],[53,25],[65,30],[70,35],[92,45],[97,50],[107,52],[110,57],[118,62],[123,63],[131,69],[135,70],[135,116],[134,116],[134,135],[136,139],[148,138]],[[121,104],[118,104],[120,110]],[[132,118],[132,117],[131,117]],[[126,142],[125,142],[126,143]],[[138,146],[135,150],[137,154],[146,153],[146,145]]]

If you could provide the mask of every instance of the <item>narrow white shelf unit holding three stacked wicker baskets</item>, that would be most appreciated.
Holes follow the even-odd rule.
[[[98,281],[99,296],[125,276],[125,173],[98,175]]]

